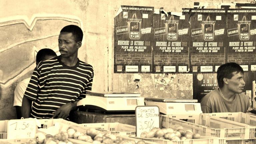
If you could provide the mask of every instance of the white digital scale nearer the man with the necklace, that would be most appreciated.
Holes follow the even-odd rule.
[[[160,113],[166,115],[203,113],[195,99],[145,98],[145,103],[146,106],[158,106]]]

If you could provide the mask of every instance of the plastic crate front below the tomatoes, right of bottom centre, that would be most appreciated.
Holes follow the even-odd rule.
[[[153,139],[153,138],[140,138],[135,136],[130,136],[132,138],[136,138],[139,140],[150,141],[152,143],[159,144],[227,144],[226,138],[218,138],[218,137],[204,137],[201,136],[201,139],[187,139],[180,141],[171,141],[166,139]]]

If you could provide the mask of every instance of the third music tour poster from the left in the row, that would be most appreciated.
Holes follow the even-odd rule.
[[[192,72],[210,73],[225,63],[226,11],[191,9],[189,47]]]

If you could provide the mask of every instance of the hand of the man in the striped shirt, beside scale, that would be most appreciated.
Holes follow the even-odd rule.
[[[66,119],[70,113],[70,111],[73,108],[73,104],[72,103],[66,103],[64,105],[62,105],[61,107],[59,107],[55,112],[53,112],[53,116],[52,118],[63,118]]]

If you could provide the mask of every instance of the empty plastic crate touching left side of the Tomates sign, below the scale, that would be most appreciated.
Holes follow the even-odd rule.
[[[135,135],[136,127],[128,124],[122,123],[85,123],[80,124],[84,127],[92,127],[101,129],[102,132],[110,132],[114,135]]]

